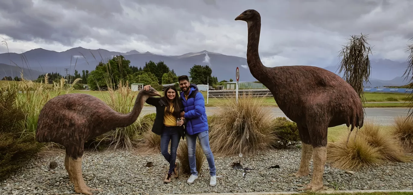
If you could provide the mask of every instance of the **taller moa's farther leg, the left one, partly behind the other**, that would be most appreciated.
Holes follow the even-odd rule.
[[[313,146],[311,146],[311,139],[308,129],[306,127],[302,127],[301,125],[297,125],[297,128],[301,139],[301,162],[298,172],[294,175],[301,177],[310,174],[310,160],[313,155]]]

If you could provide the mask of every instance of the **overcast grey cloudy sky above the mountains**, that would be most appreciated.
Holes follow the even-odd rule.
[[[246,9],[261,15],[259,54],[270,67],[337,63],[346,39],[361,33],[372,59],[406,61],[413,38],[411,0],[1,0],[0,37],[16,53],[83,47],[246,57],[247,23],[234,20]]]

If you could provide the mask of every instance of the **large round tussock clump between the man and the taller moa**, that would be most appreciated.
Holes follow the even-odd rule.
[[[243,95],[217,105],[218,112],[209,122],[211,150],[223,155],[254,153],[272,148],[276,136],[272,132],[271,110],[263,106],[263,98]]]

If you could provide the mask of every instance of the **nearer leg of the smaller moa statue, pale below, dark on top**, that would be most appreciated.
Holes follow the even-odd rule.
[[[76,193],[83,193],[87,195],[92,195],[90,191],[98,190],[91,189],[86,186],[85,181],[82,176],[82,159],[83,159],[83,143],[76,146],[71,146],[66,149],[66,155],[68,155],[68,168],[69,177],[74,184]]]

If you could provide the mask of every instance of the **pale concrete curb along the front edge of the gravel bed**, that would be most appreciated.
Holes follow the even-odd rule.
[[[318,191],[316,194],[341,194],[341,193],[375,193],[375,192],[411,192],[413,190],[326,190]],[[200,194],[180,194],[180,195],[290,195],[290,194],[302,194],[301,192],[248,192],[248,193],[200,193]],[[173,194],[163,194],[173,195]]]

